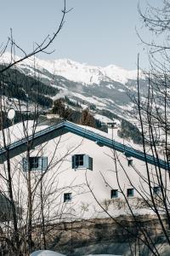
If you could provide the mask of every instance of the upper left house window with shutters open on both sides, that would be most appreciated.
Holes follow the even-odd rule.
[[[23,164],[23,170],[25,172],[28,171],[28,163],[26,158],[23,158],[22,164]],[[30,157],[30,171],[46,171],[47,167],[48,167],[47,157],[39,157],[39,156]]]

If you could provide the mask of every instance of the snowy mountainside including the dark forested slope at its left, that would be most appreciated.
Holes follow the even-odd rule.
[[[5,53],[0,60],[1,68],[19,59],[13,56],[11,60],[11,55]],[[144,99],[148,83],[141,72],[139,77],[141,99]],[[133,98],[137,96],[137,70],[128,71],[115,65],[94,67],[69,59],[44,61],[33,57],[10,68],[1,81],[7,105],[15,102],[17,106],[20,99],[23,110],[28,102],[30,106],[38,102],[43,110],[48,110],[56,99],[66,97],[71,108],[90,108],[94,114],[107,110],[131,122],[136,115]]]

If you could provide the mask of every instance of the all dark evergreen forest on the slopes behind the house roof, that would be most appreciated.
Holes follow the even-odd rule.
[[[0,65],[0,69],[2,68],[3,66]],[[53,97],[59,95],[59,89],[56,86],[42,83],[37,76],[29,76],[19,69],[10,68],[7,72],[1,74],[0,82],[2,88],[0,94],[7,97],[11,105],[13,105],[13,99],[17,99],[18,104],[20,102],[26,102],[28,105],[36,103],[41,106],[41,113],[58,113],[61,118],[76,124],[89,125],[101,131],[107,131],[105,124],[102,124],[99,119],[94,119],[94,113],[99,113],[109,119],[122,121],[118,131],[120,137],[132,139],[134,143],[142,143],[139,129],[116,113],[105,108],[96,108],[95,104],[90,104],[89,108],[83,109],[80,102],[71,100],[69,96],[63,96],[54,101]],[[53,102],[54,106],[52,108]],[[14,123],[20,122],[22,119],[34,119],[34,113],[31,111],[29,113],[23,112],[21,116],[20,110],[16,109]],[[7,125],[12,125],[12,123],[5,119],[3,127],[7,127]]]

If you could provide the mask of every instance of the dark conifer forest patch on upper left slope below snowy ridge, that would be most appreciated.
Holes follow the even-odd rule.
[[[0,66],[3,69],[3,66]],[[10,98],[20,99],[24,102],[36,102],[44,108],[52,106],[51,96],[59,90],[50,85],[43,84],[37,77],[27,76],[18,69],[10,68],[0,76],[0,94]]]

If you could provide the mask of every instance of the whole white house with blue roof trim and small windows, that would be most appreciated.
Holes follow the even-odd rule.
[[[30,134],[32,125],[30,121]],[[28,138],[31,142],[28,162],[22,124],[14,125],[8,152],[15,201],[25,210],[30,170],[34,218],[38,218],[40,209],[48,220],[104,218],[108,217],[107,211],[113,216],[129,214],[125,201],[136,214],[150,213],[142,204],[142,196],[150,196],[145,160],[153,172],[153,194],[158,194],[160,188],[152,165],[161,166],[161,172],[165,173],[166,163],[144,155],[139,145],[117,137],[115,127],[110,125],[111,128],[114,132],[110,135],[67,121],[53,126],[39,125],[34,137]],[[2,148],[2,173],[5,172],[5,157]],[[7,191],[5,181],[1,189]]]

